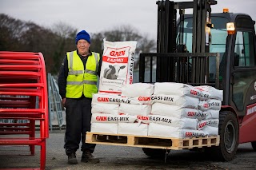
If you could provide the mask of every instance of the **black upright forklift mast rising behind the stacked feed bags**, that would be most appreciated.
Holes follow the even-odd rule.
[[[193,9],[193,47],[190,53],[209,53],[210,32],[207,28],[211,28],[210,21],[211,5],[217,4],[214,0],[194,0],[194,2],[170,2],[158,1],[158,39],[157,52],[158,53],[188,53],[186,44],[183,43],[182,35],[179,36],[179,44],[176,45],[177,36],[177,10],[179,10],[180,29],[179,32],[184,32],[184,15],[185,9]],[[193,58],[192,60],[195,60]],[[191,65],[192,83],[205,82],[204,72],[207,68],[203,64],[205,58],[198,58],[193,61]],[[175,61],[170,57],[157,58],[157,81],[175,81]],[[196,76],[200,74],[200,76]],[[161,76],[160,76],[161,75]],[[163,76],[164,75],[164,76]]]

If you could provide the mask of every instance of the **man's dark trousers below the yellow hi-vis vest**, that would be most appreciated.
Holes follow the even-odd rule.
[[[90,132],[91,99],[66,98],[66,134],[65,145],[66,155],[76,152],[82,140],[82,152],[94,152],[96,144],[86,144],[86,132]]]

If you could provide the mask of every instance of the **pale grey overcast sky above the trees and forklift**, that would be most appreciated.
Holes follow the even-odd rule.
[[[192,0],[184,0],[192,1]],[[63,22],[90,34],[130,25],[156,38],[156,0],[0,0],[0,13],[47,28]],[[174,2],[181,2],[176,0]],[[246,13],[256,20],[256,0],[218,0],[212,12]]]

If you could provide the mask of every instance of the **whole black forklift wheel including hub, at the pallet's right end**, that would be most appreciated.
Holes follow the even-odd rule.
[[[230,111],[219,113],[218,134],[220,143],[218,146],[206,148],[207,155],[221,161],[230,161],[238,150],[239,125],[238,119]]]

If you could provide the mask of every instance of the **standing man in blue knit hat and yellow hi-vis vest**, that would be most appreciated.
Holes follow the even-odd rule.
[[[90,131],[91,99],[98,93],[97,81],[100,75],[99,53],[90,51],[90,35],[80,31],[75,43],[77,50],[66,53],[58,77],[62,105],[66,108],[65,145],[68,164],[78,164],[76,151],[82,136],[81,162],[98,163],[92,156],[96,144],[86,144],[86,132]]]

